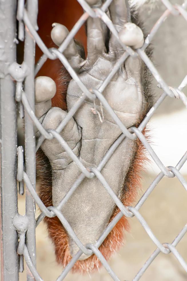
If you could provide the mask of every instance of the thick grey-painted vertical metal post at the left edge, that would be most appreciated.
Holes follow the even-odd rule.
[[[17,231],[17,114],[15,83],[8,67],[16,59],[16,1],[0,0],[0,138],[1,138],[1,280],[18,275]]]

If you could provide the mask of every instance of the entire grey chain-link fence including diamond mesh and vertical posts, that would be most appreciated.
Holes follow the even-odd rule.
[[[92,9],[85,0],[78,0],[83,7],[84,13],[77,21],[75,26],[69,32],[63,43],[59,48],[50,48],[42,42],[41,38],[37,34],[37,0],[27,0],[25,5],[24,0],[19,0],[15,3],[14,0],[1,0],[0,1],[0,23],[1,23],[1,41],[0,41],[0,73],[1,73],[1,220],[2,220],[2,233],[1,233],[1,270],[2,280],[18,280],[19,272],[23,271],[23,260],[27,264],[27,279],[28,280],[42,280],[36,269],[36,243],[35,243],[35,227],[43,220],[45,216],[51,218],[57,216],[61,221],[63,227],[66,229],[69,236],[75,241],[79,247],[77,254],[71,259],[69,264],[64,268],[61,275],[57,280],[63,280],[68,272],[71,270],[75,262],[79,259],[81,254],[90,256],[95,254],[101,261],[103,266],[106,268],[108,274],[113,280],[119,280],[116,273],[113,272],[106,259],[99,251],[99,247],[116,225],[116,223],[126,216],[132,218],[133,216],[141,223],[150,239],[155,243],[156,250],[152,253],[149,259],[143,264],[140,271],[134,277],[133,280],[139,280],[144,274],[146,269],[150,266],[154,259],[159,253],[172,254],[176,257],[178,262],[187,271],[187,264],[176,250],[176,245],[180,242],[182,237],[187,232],[187,225],[179,232],[177,237],[172,243],[162,244],[154,235],[147,222],[144,220],[139,210],[144,204],[146,199],[149,197],[151,192],[154,190],[160,180],[166,177],[177,177],[180,183],[184,186],[187,191],[187,182],[180,173],[181,167],[187,160],[187,152],[184,156],[179,159],[176,167],[168,166],[165,167],[156,155],[144,134],[143,129],[149,122],[150,118],[156,112],[158,106],[169,97],[180,98],[184,105],[187,107],[187,98],[182,92],[182,89],[187,84],[187,76],[184,77],[183,81],[178,88],[172,88],[168,86],[162,77],[160,77],[158,71],[154,67],[151,60],[146,55],[145,49],[150,44],[152,38],[156,34],[159,27],[165,21],[165,19],[172,15],[173,17],[182,16],[187,21],[187,1],[183,5],[171,5],[168,0],[162,0],[162,3],[166,6],[166,11],[158,19],[156,24],[153,26],[150,34],[146,37],[142,48],[136,51],[130,47],[125,46],[120,42],[118,32],[114,25],[108,18],[106,11],[113,0],[106,0],[102,7]],[[124,54],[114,65],[112,71],[106,76],[102,85],[98,89],[87,89],[87,87],[79,79],[65,56],[63,51],[67,48],[69,42],[75,36],[79,28],[86,22],[88,17],[100,17],[103,22],[108,26],[110,32],[119,40],[120,44],[124,48]],[[22,65],[15,63],[16,61],[16,18],[18,20],[18,38],[24,40],[24,61]],[[35,66],[35,42],[43,52],[43,56]],[[136,127],[127,129],[114,110],[110,107],[102,92],[106,86],[110,83],[112,77],[118,71],[120,66],[126,61],[129,56],[140,56],[144,63],[149,68],[150,72],[157,80],[159,87],[163,90],[162,95],[155,102],[154,106],[149,110],[141,124]],[[35,102],[35,89],[34,89],[34,78],[38,71],[41,69],[47,58],[54,60],[58,58],[64,67],[67,69],[71,77],[76,81],[78,87],[82,90],[83,95],[77,99],[71,110],[69,110],[65,119],[57,127],[56,130],[47,131],[40,124],[34,114],[34,102]],[[29,70],[29,71],[28,71]],[[16,85],[14,81],[16,81]],[[24,87],[23,87],[24,85]],[[24,89],[24,90],[23,90]],[[107,112],[112,116],[114,122],[119,126],[122,134],[114,142],[114,144],[107,151],[106,155],[98,165],[98,167],[91,167],[89,170],[84,167],[79,158],[73,153],[68,144],[63,140],[60,132],[63,130],[67,122],[72,118],[74,113],[84,103],[85,99],[99,99]],[[19,114],[21,118],[25,120],[25,165],[23,165],[23,148],[17,148],[17,112],[16,104],[19,104]],[[35,130],[34,126],[37,127],[41,136],[38,138],[35,145]],[[51,140],[56,138],[57,141],[62,145],[64,150],[69,154],[71,159],[77,164],[81,170],[80,177],[75,181],[71,189],[67,192],[59,206],[46,208],[43,202],[35,191],[35,153],[43,143],[45,139]],[[153,161],[160,168],[159,175],[154,179],[152,184],[148,187],[146,192],[143,194],[139,202],[135,207],[124,206],[112,188],[106,182],[106,179],[101,174],[101,171],[107,161],[110,159],[112,153],[117,149],[120,143],[125,139],[135,140],[137,138],[143,143],[144,147],[151,155]],[[87,177],[93,179],[97,177],[102,183],[104,188],[110,194],[115,204],[120,209],[120,212],[114,217],[114,219],[108,224],[104,233],[100,236],[98,241],[93,244],[83,245],[78,237],[75,235],[73,229],[69,225],[69,222],[65,219],[63,214],[60,212],[63,205],[67,202],[76,188],[81,184],[83,179]],[[18,214],[17,207],[17,181],[19,182],[19,193],[23,195],[24,184],[26,186],[26,206],[25,216]],[[39,206],[41,214],[35,220],[35,203]],[[176,210],[177,211],[177,210]],[[25,235],[26,234],[26,235]],[[125,272],[124,272],[125,279]]]

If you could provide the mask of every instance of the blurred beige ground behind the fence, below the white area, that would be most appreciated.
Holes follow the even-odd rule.
[[[143,191],[148,188],[155,177],[155,175],[150,173],[146,173],[143,176],[143,188],[139,197],[141,197]],[[187,175],[185,179],[187,180]],[[140,213],[161,243],[171,243],[186,224],[186,200],[187,193],[177,178],[163,178],[140,209]],[[23,210],[24,200],[20,198],[19,211],[23,212]],[[135,217],[130,219],[130,225],[130,233],[124,233],[126,245],[109,262],[118,278],[122,281],[132,280],[156,249],[155,244]],[[55,262],[53,245],[48,238],[43,223],[37,228],[36,241],[37,270],[39,274],[45,281],[56,280],[63,268]],[[187,235],[183,237],[176,249],[187,262],[186,245]],[[25,272],[20,274],[20,280],[26,280]],[[91,276],[69,273],[64,280],[109,281],[112,278],[102,268],[99,273]],[[160,253],[141,278],[141,281],[150,280],[184,281],[187,280],[187,273],[172,253],[169,255]]]

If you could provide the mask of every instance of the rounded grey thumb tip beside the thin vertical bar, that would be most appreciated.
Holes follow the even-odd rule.
[[[56,93],[56,84],[50,77],[39,76],[35,79],[35,115],[41,118],[50,108],[51,99]]]

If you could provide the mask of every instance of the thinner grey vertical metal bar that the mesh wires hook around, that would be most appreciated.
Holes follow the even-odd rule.
[[[27,12],[29,19],[34,27],[37,26],[37,0],[27,1]],[[34,91],[34,65],[35,65],[35,41],[31,34],[25,28],[25,48],[24,48],[24,62],[29,66],[30,73],[25,79],[25,93],[29,104],[34,112],[35,108],[35,91]],[[35,132],[33,122],[25,110],[25,168],[29,176],[31,184],[35,188]],[[35,239],[35,202],[26,190],[26,215],[29,218],[29,227],[26,234],[26,244],[29,255],[36,266],[36,239]],[[27,268],[27,280],[34,280],[31,272]]]

